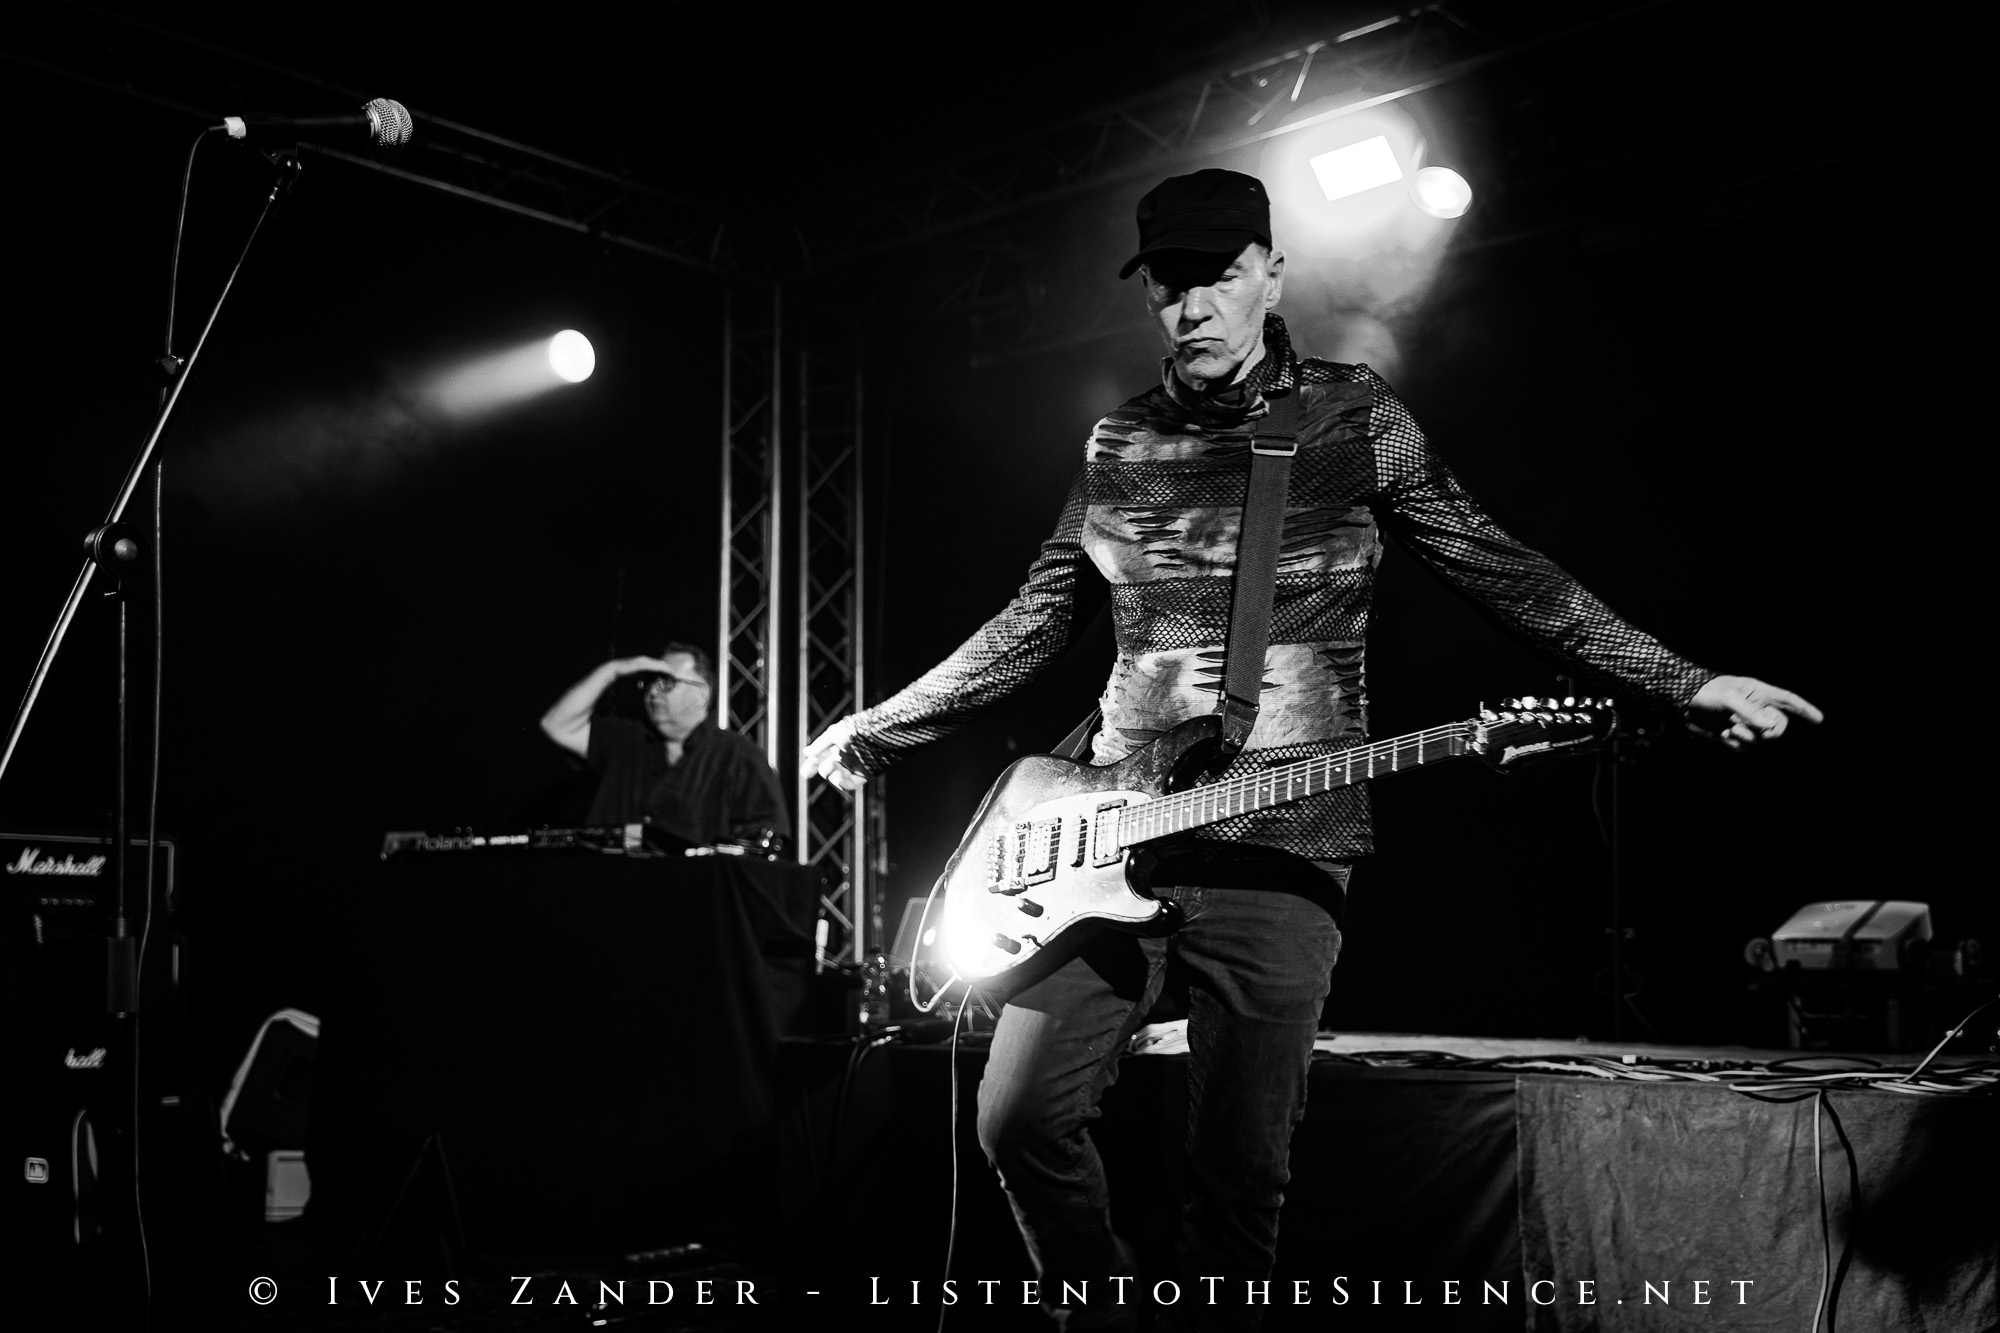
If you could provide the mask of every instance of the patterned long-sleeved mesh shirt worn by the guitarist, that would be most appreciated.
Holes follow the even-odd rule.
[[[1302,394],[1270,648],[1256,729],[1226,777],[1344,751],[1368,735],[1362,671],[1382,532],[1530,646],[1626,705],[1686,707],[1712,673],[1618,618],[1548,556],[1508,536],[1432,452],[1368,366],[1296,358],[1264,320],[1264,358],[1222,394],[1162,382],[1090,432],[1054,534],[1014,600],[916,683],[856,717],[848,763],[880,773],[1000,703],[1080,632],[1078,580],[1110,582],[1118,660],[1100,699],[1094,763],[1114,763],[1190,717],[1222,685],[1252,422],[1266,396]],[[1196,833],[1314,861],[1374,851],[1368,789],[1342,787]]]

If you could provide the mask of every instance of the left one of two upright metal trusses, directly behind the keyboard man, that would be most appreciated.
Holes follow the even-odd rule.
[[[716,604],[716,725],[778,773],[780,570],[784,568],[784,292],[722,302],[722,560]]]

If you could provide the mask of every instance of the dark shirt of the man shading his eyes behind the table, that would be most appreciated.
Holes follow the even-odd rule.
[[[598,795],[592,825],[646,823],[690,843],[718,843],[788,827],[778,775],[764,753],[734,731],[702,723],[666,761],[666,739],[648,723],[598,717],[590,723],[590,767]]]

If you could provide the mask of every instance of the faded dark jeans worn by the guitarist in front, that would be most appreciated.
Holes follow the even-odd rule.
[[[1000,1013],[980,1083],[980,1143],[1006,1187],[1044,1305],[1062,1283],[1088,1281],[1066,1327],[1116,1327],[1150,1291],[1116,1273],[1130,1259],[1110,1227],[1104,1163],[1090,1141],[1098,1099],[1118,1077],[1126,1041],[1160,997],[1172,957],[1188,983],[1188,1203],[1180,1227],[1180,1305],[1170,1323],[1256,1327],[1244,1281],[1270,1275],[1278,1205],[1290,1179],[1292,1127],[1306,1109],[1306,1067],[1320,1025],[1340,927],[1328,893],[1168,887],[1184,925],[1168,939],[1104,935],[1016,995]],[[1338,885],[1340,889],[1334,889]],[[1208,1283],[1216,1305],[1206,1303]]]

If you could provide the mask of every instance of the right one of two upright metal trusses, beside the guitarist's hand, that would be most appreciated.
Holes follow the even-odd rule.
[[[866,703],[866,560],[862,376],[852,360],[798,352],[798,624],[794,671],[800,737]],[[800,861],[824,871],[826,959],[860,961],[882,937],[882,785],[844,793],[804,769],[794,787]]]

